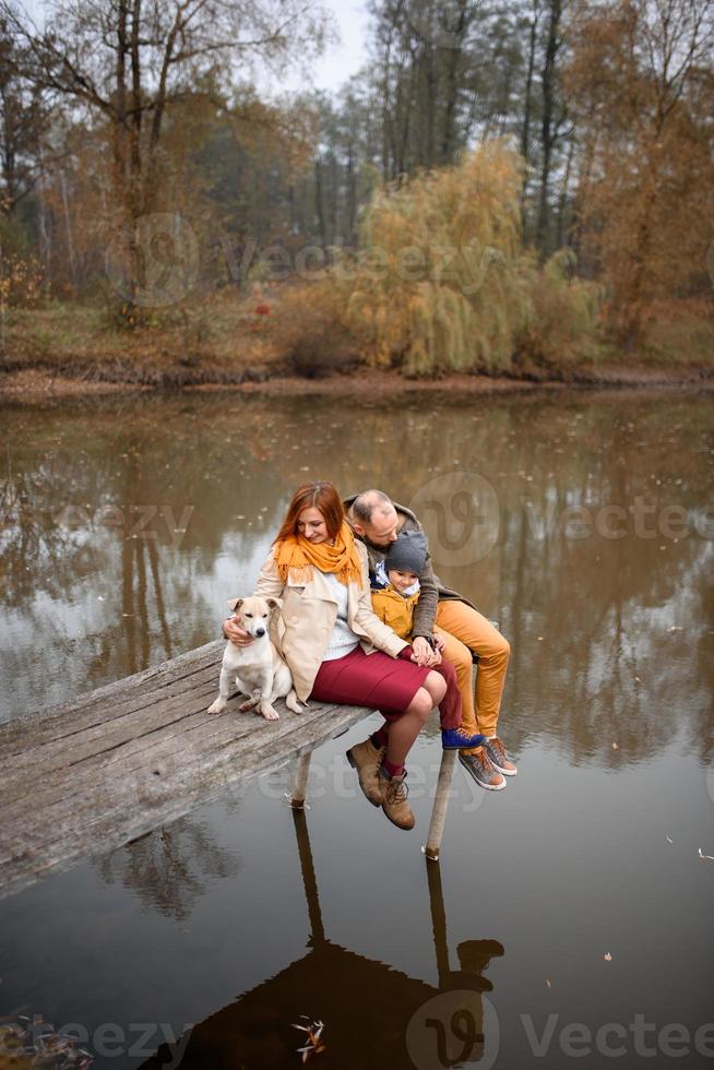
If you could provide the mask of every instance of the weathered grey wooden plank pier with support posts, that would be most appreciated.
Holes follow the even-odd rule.
[[[309,754],[373,713],[310,702],[269,722],[221,716],[215,698],[225,642],[163,662],[74,702],[0,724],[0,897],[136,840],[226,788],[293,759],[294,806]],[[438,858],[455,759],[445,751],[427,856]]]

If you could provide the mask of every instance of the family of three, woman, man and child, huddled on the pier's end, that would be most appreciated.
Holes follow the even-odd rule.
[[[397,828],[415,823],[405,761],[435,706],[442,746],[459,750],[479,787],[499,792],[515,775],[498,735],[509,643],[435,575],[409,509],[381,490],[343,501],[331,483],[299,487],[254,594],[279,602],[270,638],[300,701],[380,711],[381,727],[347,759]],[[224,634],[237,646],[254,641],[236,616]]]

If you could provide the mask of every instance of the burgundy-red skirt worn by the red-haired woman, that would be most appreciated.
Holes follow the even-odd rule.
[[[365,654],[356,646],[344,657],[323,662],[310,698],[348,706],[373,706],[388,721],[401,717],[431,669],[390,657],[382,651]]]

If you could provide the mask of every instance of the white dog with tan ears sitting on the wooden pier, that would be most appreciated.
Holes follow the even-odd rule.
[[[285,699],[288,710],[302,713],[287,663],[267,634],[270,615],[281,606],[279,598],[236,598],[228,603],[228,608],[239,618],[240,627],[253,637],[253,641],[248,646],[236,646],[230,642],[226,645],[218,698],[209,706],[209,713],[223,713],[226,709],[231,677],[235,677],[239,692],[250,694],[241,710],[260,706],[266,721],[277,721],[279,714],[273,702]]]

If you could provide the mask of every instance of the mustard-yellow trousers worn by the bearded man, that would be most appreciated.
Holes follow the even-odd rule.
[[[476,609],[456,601],[439,603],[435,632],[445,642],[442,655],[456,669],[464,728],[472,735],[496,736],[511,653],[508,640]],[[478,654],[475,699],[472,651]]]

